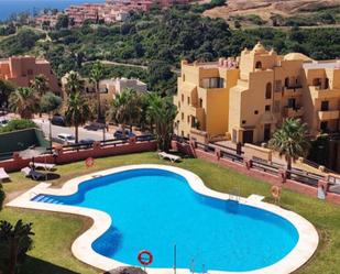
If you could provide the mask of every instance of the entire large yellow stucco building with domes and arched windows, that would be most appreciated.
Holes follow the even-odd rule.
[[[311,135],[339,131],[340,63],[278,55],[257,43],[234,59],[182,63],[178,135],[211,141],[267,141],[286,118],[301,118]],[[197,127],[197,121],[199,122]]]

